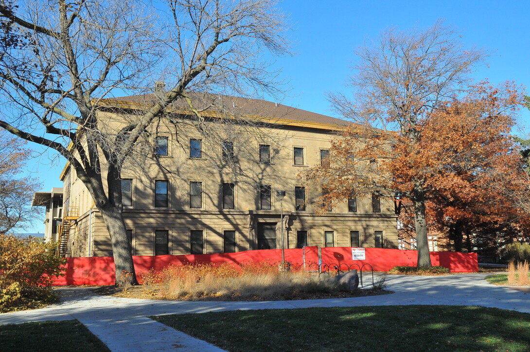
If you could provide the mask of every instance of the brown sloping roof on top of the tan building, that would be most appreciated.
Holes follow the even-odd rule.
[[[225,110],[229,110],[233,113],[241,113],[251,116],[260,116],[276,119],[290,119],[305,122],[317,122],[320,124],[330,124],[339,126],[348,126],[351,123],[346,120],[321,115],[320,113],[297,109],[289,107],[287,105],[277,104],[261,99],[241,98],[237,96],[216,95],[210,93],[188,94],[190,96],[190,99],[193,101],[193,106],[198,110],[207,108],[207,110],[216,111],[220,110],[217,107],[224,106]],[[152,105],[154,104],[156,99],[157,97],[155,94],[141,94],[123,96],[120,98],[106,100]],[[211,107],[210,104],[214,104],[217,107]],[[179,99],[176,103],[173,103],[173,106],[181,109],[189,108],[186,105],[184,99]]]

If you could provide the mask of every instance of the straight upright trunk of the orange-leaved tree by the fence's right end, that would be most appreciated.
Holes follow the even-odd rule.
[[[414,185],[414,221],[416,222],[416,245],[418,248],[418,268],[430,268],[429,242],[427,240],[427,220],[425,215],[425,191],[421,184]]]

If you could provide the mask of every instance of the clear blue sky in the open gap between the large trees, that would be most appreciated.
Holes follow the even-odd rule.
[[[438,19],[460,31],[466,46],[492,52],[488,66],[474,73],[477,81],[488,78],[493,84],[515,81],[530,85],[529,1],[285,0],[281,7],[290,13],[293,30],[289,35],[297,53],[276,63],[290,86],[287,98],[281,102],[286,105],[335,116],[324,95],[348,92],[343,83],[351,74],[356,47],[390,27],[425,29]],[[521,111],[519,125],[525,129],[530,126],[529,112]],[[37,146],[36,150],[42,152]],[[28,175],[39,178],[45,191],[62,187],[58,177],[64,160],[50,161],[49,156],[54,155],[45,152],[28,165]],[[36,222],[25,232],[43,230],[42,223]]]

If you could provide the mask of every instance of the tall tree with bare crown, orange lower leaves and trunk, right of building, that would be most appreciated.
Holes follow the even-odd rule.
[[[483,147],[509,148],[510,114],[520,96],[509,85],[469,87],[470,69],[487,53],[463,50],[458,33],[441,22],[423,32],[382,33],[357,55],[350,81],[354,100],[330,96],[354,124],[333,142],[330,168],[317,166],[307,179],[322,184],[328,200],[352,191],[395,191],[409,199],[418,266],[430,267],[426,201],[444,187],[462,187],[463,193],[467,186],[459,172],[481,170]],[[464,90],[470,93],[458,100]],[[467,128],[473,118],[474,128]]]

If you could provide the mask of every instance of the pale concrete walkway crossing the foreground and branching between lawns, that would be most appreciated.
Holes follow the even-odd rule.
[[[90,288],[59,288],[61,302],[42,309],[0,314],[0,325],[77,319],[112,351],[222,351],[146,318],[161,314],[231,310],[293,309],[368,305],[480,305],[530,313],[530,293],[494,286],[489,274],[449,276],[389,275],[391,295],[271,302],[178,302],[99,296]],[[365,277],[365,282],[367,278]],[[365,285],[366,287],[366,285]]]

